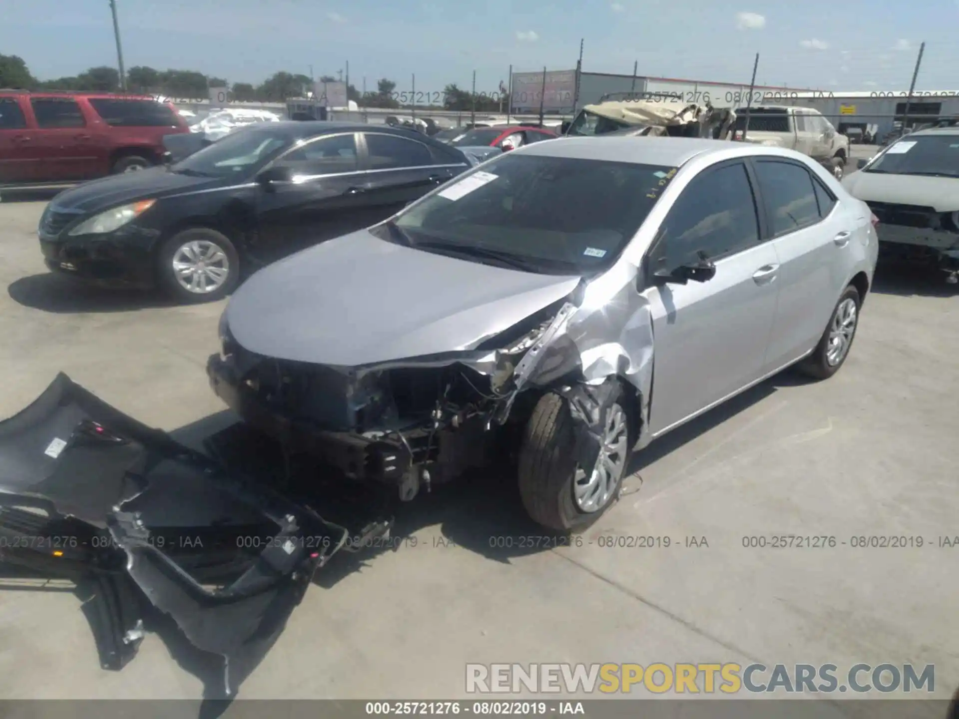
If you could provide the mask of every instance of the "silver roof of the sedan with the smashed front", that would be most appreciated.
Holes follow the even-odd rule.
[[[695,137],[567,137],[561,142],[536,142],[524,146],[524,154],[569,157],[584,160],[633,162],[638,165],[680,167],[697,155],[738,149],[743,155],[754,147],[729,140]],[[774,148],[762,147],[771,151]]]

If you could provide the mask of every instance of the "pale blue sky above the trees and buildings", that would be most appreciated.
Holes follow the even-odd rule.
[[[959,89],[959,0],[895,9],[881,0],[118,0],[127,66],[263,81],[277,70],[318,77],[349,61],[350,81],[409,89],[449,82],[495,90],[515,71],[583,69],[790,87]],[[106,0],[0,0],[0,53],[41,79],[115,65]]]

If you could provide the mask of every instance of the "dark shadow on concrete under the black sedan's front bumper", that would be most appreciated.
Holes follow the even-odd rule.
[[[54,272],[14,280],[7,293],[17,304],[48,313],[111,313],[173,307],[160,292],[105,290]]]

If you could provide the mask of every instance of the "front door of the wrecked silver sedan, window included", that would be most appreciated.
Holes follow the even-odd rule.
[[[776,252],[760,242],[755,177],[741,160],[695,177],[646,253],[653,322],[650,429],[662,434],[760,379],[776,312]],[[715,275],[657,280],[703,253]]]

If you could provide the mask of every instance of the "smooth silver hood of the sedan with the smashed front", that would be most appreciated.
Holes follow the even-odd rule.
[[[234,293],[226,323],[258,355],[353,367],[472,349],[579,279],[480,265],[361,230],[256,272]]]

